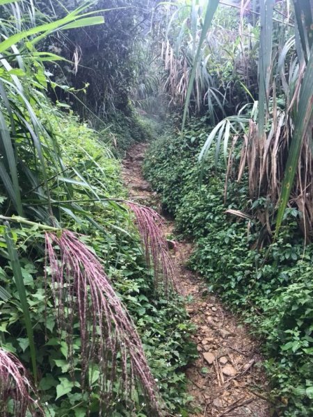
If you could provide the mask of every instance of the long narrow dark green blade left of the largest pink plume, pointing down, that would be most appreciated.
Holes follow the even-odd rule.
[[[36,354],[35,354],[35,343],[33,340],[33,327],[31,325],[31,315],[29,313],[29,303],[27,302],[26,289],[24,286],[24,280],[22,275],[21,265],[19,263],[19,255],[13,240],[12,232],[10,229],[10,224],[5,222],[6,231],[6,245],[8,249],[8,255],[10,256],[10,262],[13,269],[13,275],[15,280],[15,285],[17,288],[17,293],[19,295],[19,301],[21,302],[22,311],[24,314],[25,327],[27,337],[29,338],[29,350],[31,352],[31,363],[33,367],[33,377],[35,383],[37,382],[37,367],[36,367]]]

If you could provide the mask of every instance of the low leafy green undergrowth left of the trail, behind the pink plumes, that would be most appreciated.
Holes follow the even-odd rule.
[[[95,192],[102,193],[102,197],[125,198],[120,163],[113,158],[111,150],[103,145],[99,133],[89,129],[86,124],[80,124],[74,115],[61,114],[53,108],[45,115],[41,113],[40,117],[44,123],[49,120],[49,128],[54,129],[65,166],[83,165],[86,180]],[[77,176],[71,179],[72,184],[79,184],[79,180]],[[68,181],[69,186],[71,181]],[[162,291],[154,289],[153,273],[146,266],[138,232],[127,210],[115,210],[113,206],[99,202],[83,202],[86,196],[83,186],[79,191],[79,185],[74,197],[79,200],[81,210],[88,213],[93,221],[77,213],[74,215],[70,209],[68,213],[63,210],[59,220],[63,227],[81,234],[81,241],[99,256],[113,288],[136,324],[163,400],[172,412],[184,414],[188,398],[182,368],[193,357],[194,347],[189,341],[192,328],[182,300],[176,295],[167,298]],[[58,187],[57,181],[51,186],[51,198],[65,198],[64,189]],[[6,197],[2,195],[1,203],[5,202]],[[90,389],[83,393],[79,379],[82,361],[79,318],[76,317],[72,322],[73,351],[69,352],[66,334],[58,332],[56,306],[51,298],[52,288],[45,288],[47,281],[42,231],[35,224],[33,227],[12,227],[12,231],[33,323],[40,403],[47,404],[51,416],[66,414],[80,417],[86,416],[88,410],[96,416],[99,409],[99,370],[97,365],[89,368]],[[23,325],[24,317],[13,280],[13,267],[7,260],[3,232],[4,227],[1,226],[1,347],[16,354],[28,368],[31,366],[29,339]],[[120,372],[122,370],[118,370]],[[137,386],[132,391],[131,400],[126,400],[119,386],[115,385],[109,415],[128,416],[129,413],[135,416],[150,415],[141,389]]]

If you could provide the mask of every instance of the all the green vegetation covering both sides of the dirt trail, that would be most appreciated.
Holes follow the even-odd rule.
[[[191,268],[264,337],[276,408],[312,415],[312,8],[241,3],[0,0],[1,416],[188,415],[192,327],[114,158],[161,134],[134,105],[205,115],[154,142],[147,175]]]

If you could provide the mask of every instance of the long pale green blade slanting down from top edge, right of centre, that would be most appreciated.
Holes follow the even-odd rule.
[[[197,70],[198,60],[200,56],[200,51],[202,48],[202,44],[204,42],[204,39],[207,35],[207,31],[209,30],[209,27],[211,25],[212,19],[214,17],[214,14],[216,12],[216,9],[218,7],[218,1],[219,0],[209,0],[209,3],[207,5],[207,11],[205,13],[203,27],[201,31],[201,36],[198,44],[197,53],[195,54],[195,58],[193,59],[193,68],[191,70],[191,74],[188,81],[188,88],[186,93],[186,100],[184,104],[184,114],[183,114],[183,120],[182,120],[182,131],[184,130],[184,126],[186,123],[186,117],[188,112],[188,106],[191,99],[191,93],[193,92],[193,82],[195,81],[195,72]]]

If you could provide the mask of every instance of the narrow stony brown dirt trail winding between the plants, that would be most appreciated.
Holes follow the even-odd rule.
[[[156,193],[143,179],[142,163],[146,144],[137,144],[123,163],[123,178],[134,201],[160,206]],[[174,224],[166,220],[165,233]],[[213,295],[201,277],[186,269],[184,262],[191,254],[190,243],[178,242],[172,254],[177,266],[177,288],[192,296],[186,309],[198,327],[194,336],[199,358],[186,370],[188,392],[193,395],[193,417],[270,416],[266,401],[266,380],[257,364],[257,343],[247,329]],[[206,368],[207,373],[203,373]]]

